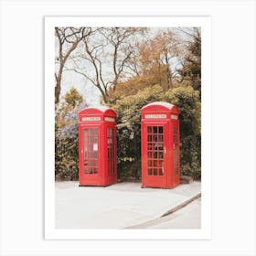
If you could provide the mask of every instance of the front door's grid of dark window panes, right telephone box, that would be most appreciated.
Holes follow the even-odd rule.
[[[164,175],[164,127],[147,126],[147,173]]]

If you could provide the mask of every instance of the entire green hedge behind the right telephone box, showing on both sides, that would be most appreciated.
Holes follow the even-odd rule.
[[[180,112],[181,175],[201,176],[201,117],[199,92],[191,86],[163,89],[155,85],[116,101],[111,107],[118,113],[119,178],[141,176],[141,108],[154,101],[175,104]]]

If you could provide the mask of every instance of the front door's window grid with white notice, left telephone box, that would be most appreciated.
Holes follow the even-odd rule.
[[[84,129],[84,173],[98,174],[98,130],[97,128]]]

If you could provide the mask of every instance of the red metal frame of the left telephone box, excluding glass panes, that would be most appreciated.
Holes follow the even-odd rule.
[[[107,107],[86,108],[79,112],[79,182],[80,186],[109,186],[117,182],[116,112]],[[87,156],[97,166],[97,173],[85,173],[85,129],[97,129],[97,143],[88,155],[97,152],[97,160]],[[109,173],[108,129],[112,129],[112,172]],[[93,138],[93,136],[92,136]],[[87,144],[89,145],[89,143]],[[94,157],[94,156],[93,156]],[[92,159],[92,160],[91,160]],[[94,162],[93,162],[94,161]],[[97,162],[96,162],[97,161]],[[96,165],[97,163],[97,165]],[[91,165],[91,164],[90,164]],[[90,166],[89,165],[89,169]],[[91,167],[94,168],[94,167]],[[96,170],[94,168],[94,170]]]

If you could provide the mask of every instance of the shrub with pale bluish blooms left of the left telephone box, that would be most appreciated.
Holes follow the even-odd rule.
[[[84,107],[82,97],[71,88],[59,101],[55,110],[55,177],[78,179],[79,133],[78,112]]]

